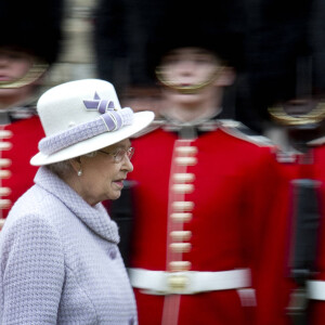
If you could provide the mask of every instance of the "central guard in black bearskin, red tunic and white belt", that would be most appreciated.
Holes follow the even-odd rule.
[[[142,325],[275,324],[273,147],[219,118],[243,54],[235,4],[168,3],[148,38],[164,108],[133,140],[129,272]]]

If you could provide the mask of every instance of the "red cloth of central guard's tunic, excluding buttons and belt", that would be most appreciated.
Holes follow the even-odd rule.
[[[197,164],[184,169],[174,164],[176,147],[181,145],[177,134],[159,129],[132,143],[134,171],[129,179],[135,180],[138,187],[131,266],[166,271],[170,260],[180,258],[168,250],[169,233],[176,226],[168,220],[172,200],[184,199],[195,207],[192,221],[183,224],[192,232],[192,249],[181,259],[191,262],[192,271],[249,266],[255,288],[268,292],[258,292],[261,312],[256,313],[242,306],[236,290],[183,295],[178,308],[174,296],[151,296],[135,289],[140,325],[161,324],[164,302],[171,318],[172,313],[179,314],[180,325],[277,324],[271,317],[272,303],[277,302],[270,298],[278,291],[269,274],[274,266],[266,252],[270,242],[276,239],[272,216],[280,179],[270,147],[219,129],[190,143],[197,148]],[[195,176],[194,192],[184,197],[170,190],[172,174],[180,169]]]

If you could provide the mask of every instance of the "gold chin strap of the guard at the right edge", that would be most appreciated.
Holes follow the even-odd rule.
[[[272,118],[284,126],[303,126],[318,123],[325,118],[325,103],[318,103],[308,114],[292,116],[288,115],[282,106],[270,107],[269,113]]]

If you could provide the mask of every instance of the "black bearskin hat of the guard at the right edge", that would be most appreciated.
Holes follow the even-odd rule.
[[[269,119],[268,107],[325,90],[325,4],[262,0],[248,35],[252,107]]]

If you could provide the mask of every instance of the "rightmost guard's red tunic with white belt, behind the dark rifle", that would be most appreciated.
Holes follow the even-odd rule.
[[[277,263],[280,266],[277,272],[280,272],[280,278],[284,280],[284,283],[282,284],[283,295],[278,299],[280,310],[276,312],[280,317],[276,324],[292,324],[289,314],[286,312],[290,311],[290,308],[292,307],[297,308],[295,303],[292,304],[292,301],[295,301],[292,298],[295,297],[295,290],[298,285],[290,277],[290,259],[292,258],[294,251],[292,243],[295,229],[295,214],[292,214],[294,193],[290,181],[295,179],[311,179],[320,182],[317,194],[321,199],[321,221],[318,232],[314,234],[318,238],[316,273],[315,277],[307,283],[309,308],[304,311],[304,322],[308,322],[308,324],[311,325],[321,325],[325,322],[325,146],[324,144],[321,144],[310,148],[307,154],[296,154],[288,158],[290,159],[283,160],[283,157],[278,156],[281,172],[287,186],[284,187],[283,194],[283,211],[281,212],[283,217],[277,219],[280,230],[277,233],[277,248],[273,249],[273,251],[277,251],[277,255],[282,257],[282,261]],[[296,240],[304,239],[306,238],[297,238]],[[281,285],[280,283],[278,286]]]

